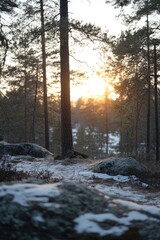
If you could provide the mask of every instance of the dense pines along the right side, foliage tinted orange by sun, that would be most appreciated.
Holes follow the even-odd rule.
[[[114,57],[109,64],[110,75],[119,78],[115,90],[119,94],[116,102],[121,150],[137,155],[143,143],[148,158],[154,153],[159,160],[160,2],[106,2],[122,8],[128,26],[111,42]],[[128,14],[125,6],[130,7]]]

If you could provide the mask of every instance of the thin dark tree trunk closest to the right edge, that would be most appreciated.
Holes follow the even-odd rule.
[[[156,160],[159,161],[159,121],[158,121],[158,92],[157,92],[157,52],[154,44],[154,103],[155,103],[155,130],[156,130]]]

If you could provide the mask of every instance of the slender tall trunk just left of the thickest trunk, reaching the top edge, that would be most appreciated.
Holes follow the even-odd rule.
[[[47,99],[47,77],[46,77],[46,47],[45,47],[45,29],[44,29],[43,0],[40,0],[40,7],[41,7],[41,42],[42,42],[42,69],[43,69],[43,104],[44,104],[45,148],[49,150],[48,99]]]

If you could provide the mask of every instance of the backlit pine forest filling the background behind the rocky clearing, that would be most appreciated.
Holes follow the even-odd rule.
[[[36,143],[64,157],[75,149],[92,159],[160,160],[160,3],[104,2],[119,9],[125,30],[118,36],[72,18],[65,1],[1,1],[1,140]],[[80,64],[79,52],[89,46],[103,56],[98,74],[116,97],[106,87],[101,98],[70,99],[70,84],[78,91],[88,76],[69,61]],[[119,141],[110,150],[112,136]]]

